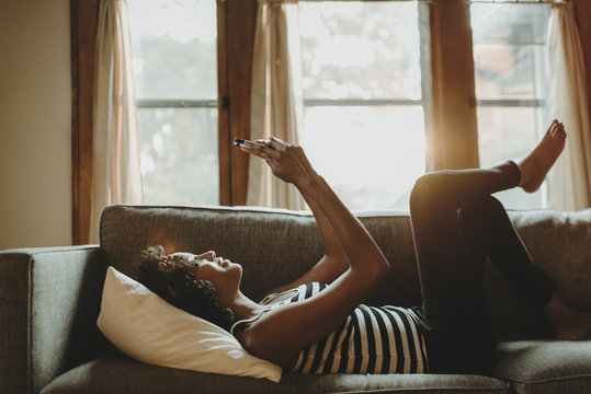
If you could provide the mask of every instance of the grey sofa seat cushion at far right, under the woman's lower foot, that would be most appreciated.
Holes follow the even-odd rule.
[[[496,375],[520,394],[591,393],[591,340],[514,340],[499,354]]]

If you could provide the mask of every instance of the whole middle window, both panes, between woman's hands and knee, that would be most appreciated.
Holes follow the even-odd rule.
[[[352,209],[407,209],[425,171],[424,5],[299,1],[302,144]]]

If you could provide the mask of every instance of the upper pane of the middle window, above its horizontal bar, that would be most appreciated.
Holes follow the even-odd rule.
[[[299,2],[304,96],[421,99],[417,4]]]

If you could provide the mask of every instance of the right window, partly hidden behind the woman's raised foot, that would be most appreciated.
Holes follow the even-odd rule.
[[[480,165],[519,159],[546,131],[548,4],[470,8]],[[545,206],[545,185],[498,196],[508,208]]]

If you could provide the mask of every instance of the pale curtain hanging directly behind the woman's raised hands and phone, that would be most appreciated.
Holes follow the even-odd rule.
[[[259,0],[250,139],[275,136],[298,143],[303,90],[297,1]],[[257,157],[249,162],[247,205],[305,209],[297,189],[275,178]]]

